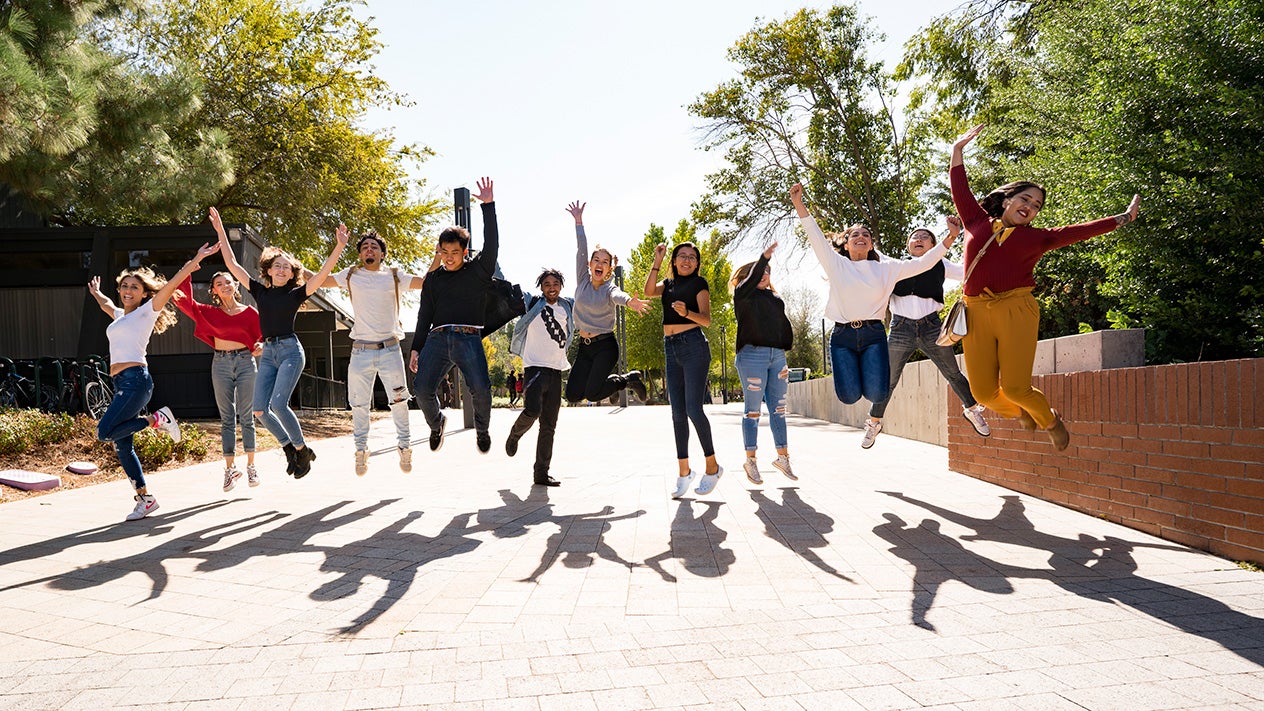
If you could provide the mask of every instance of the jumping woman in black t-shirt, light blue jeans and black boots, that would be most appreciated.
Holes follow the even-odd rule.
[[[295,333],[295,316],[303,301],[316,294],[343,254],[348,240],[346,225],[337,225],[334,250],[313,278],[303,278],[303,267],[298,259],[276,247],[268,247],[259,256],[260,282],[250,278],[249,272],[238,263],[219,210],[211,207],[210,216],[215,233],[220,235],[224,264],[241,283],[249,282],[250,296],[259,309],[263,354],[259,358],[259,374],[254,381],[254,416],[259,417],[284,449],[286,473],[301,479],[311,471],[316,453],[303,440],[302,425],[289,407],[289,396],[293,395],[307,362]]]

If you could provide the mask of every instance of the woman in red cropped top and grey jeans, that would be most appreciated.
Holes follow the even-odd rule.
[[[236,424],[241,424],[241,448],[245,449],[245,473],[250,486],[259,486],[254,468],[254,353],[263,334],[259,311],[239,301],[238,282],[228,272],[211,277],[211,304],[193,299],[193,278],[185,280],[172,301],[193,319],[193,335],[215,349],[211,359],[211,386],[220,410],[220,443],[224,453],[224,491],[233,491],[241,472],[236,468]]]

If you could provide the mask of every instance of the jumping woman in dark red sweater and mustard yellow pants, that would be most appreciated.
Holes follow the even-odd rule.
[[[1040,306],[1031,296],[1035,263],[1045,252],[1106,234],[1136,219],[1140,195],[1127,210],[1110,218],[1062,228],[1033,228],[1044,206],[1044,189],[1029,181],[1002,185],[980,202],[969,191],[962,151],[983,130],[977,125],[952,147],[948,182],[952,201],[966,226],[963,263],[996,235],[969,278],[966,299],[966,376],[969,391],[1002,417],[1019,417],[1024,429],[1049,433],[1055,448],[1066,449],[1071,434],[1044,393],[1031,387],[1031,366],[1040,326]]]

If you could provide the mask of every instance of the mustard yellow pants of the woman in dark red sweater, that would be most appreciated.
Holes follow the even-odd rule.
[[[1044,393],[1031,387],[1040,305],[1030,287],[966,296],[966,377],[975,400],[1002,417],[1026,410],[1042,429],[1053,426]]]

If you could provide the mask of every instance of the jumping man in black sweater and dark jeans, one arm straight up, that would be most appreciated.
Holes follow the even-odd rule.
[[[417,328],[408,357],[408,369],[417,373],[413,381],[417,402],[430,425],[431,452],[444,445],[447,416],[439,410],[436,393],[453,364],[461,369],[469,383],[478,450],[487,454],[492,449],[492,434],[488,431],[492,423],[492,378],[487,371],[482,335],[487,292],[501,250],[492,178],[478,181],[475,197],[483,209],[483,249],[466,261],[470,233],[465,228],[450,226],[439,234],[441,268],[426,277],[426,287],[421,290]]]

